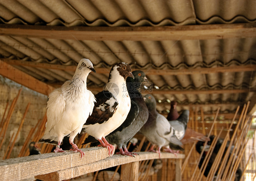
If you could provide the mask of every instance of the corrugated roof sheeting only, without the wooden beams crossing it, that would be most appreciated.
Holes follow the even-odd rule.
[[[255,23],[256,1],[165,0],[0,0],[1,24],[42,26],[184,26]],[[255,38],[219,40],[93,41],[57,40],[0,35],[0,57],[37,63],[76,65],[81,58],[95,67],[127,62],[133,68],[191,69],[256,64]],[[15,65],[40,81],[57,84],[74,72]],[[255,71],[191,75],[147,75],[160,90],[214,90],[255,88]],[[104,86],[107,74],[93,74],[88,85]],[[253,92],[239,94],[155,94],[158,110],[166,113],[167,100],[180,104],[246,103]],[[237,106],[222,106],[234,112]],[[182,108],[188,107],[180,107]],[[205,106],[204,111],[216,111]]]

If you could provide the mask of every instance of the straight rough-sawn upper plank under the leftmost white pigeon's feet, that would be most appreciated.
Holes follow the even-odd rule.
[[[93,163],[108,157],[107,148],[91,147],[82,149],[85,157],[80,153],[67,151],[67,153],[46,153],[20,158],[11,158],[0,161],[0,178],[5,181],[23,180],[35,175],[47,174],[54,171],[69,169]]]

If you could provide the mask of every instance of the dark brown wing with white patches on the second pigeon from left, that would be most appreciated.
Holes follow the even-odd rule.
[[[85,125],[102,124],[106,122],[116,111],[118,102],[109,91],[102,91],[95,95],[96,103],[92,114],[88,117]]]

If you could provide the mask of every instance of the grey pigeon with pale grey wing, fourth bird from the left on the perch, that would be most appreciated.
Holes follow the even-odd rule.
[[[140,131],[153,144],[149,151],[154,151],[154,145],[157,145],[158,149],[154,152],[159,153],[160,157],[160,149],[170,144],[176,149],[184,150],[181,147],[182,143],[175,135],[174,128],[163,115],[157,112],[155,98],[152,95],[146,95],[145,102],[149,110],[149,118]],[[165,151],[174,153],[170,148]]]

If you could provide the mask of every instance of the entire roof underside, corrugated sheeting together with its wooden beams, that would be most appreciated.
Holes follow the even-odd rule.
[[[127,62],[146,73],[163,114],[173,100],[178,111],[234,113],[247,101],[253,111],[255,21],[254,0],[0,0],[0,58],[53,86],[88,58],[101,70],[88,77],[93,93]]]

